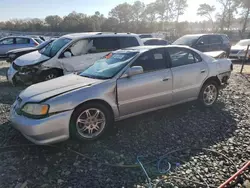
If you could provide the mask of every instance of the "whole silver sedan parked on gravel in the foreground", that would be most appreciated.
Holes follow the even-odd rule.
[[[183,46],[117,50],[80,74],[32,85],[10,119],[36,144],[102,136],[114,121],[192,100],[212,106],[232,63]]]

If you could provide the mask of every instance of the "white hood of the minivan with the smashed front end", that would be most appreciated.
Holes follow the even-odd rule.
[[[50,57],[40,54],[39,51],[34,51],[18,57],[15,60],[15,64],[19,66],[34,65],[48,59]]]

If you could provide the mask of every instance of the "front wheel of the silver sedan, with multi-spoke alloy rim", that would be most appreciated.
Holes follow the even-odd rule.
[[[95,119],[97,111],[99,113]],[[104,123],[101,119],[104,120]],[[70,134],[80,141],[97,140],[112,127],[113,122],[113,115],[105,105],[99,103],[83,104],[76,108],[70,119]]]

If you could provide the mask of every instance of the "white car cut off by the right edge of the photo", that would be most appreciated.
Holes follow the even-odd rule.
[[[229,58],[244,59],[248,45],[250,45],[250,39],[244,39],[244,40],[239,41],[236,45],[231,47]],[[250,49],[247,53],[247,59],[250,59]]]

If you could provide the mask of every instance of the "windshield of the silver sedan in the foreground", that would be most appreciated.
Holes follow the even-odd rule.
[[[123,69],[138,52],[112,52],[96,61],[80,75],[96,79],[109,79]]]

